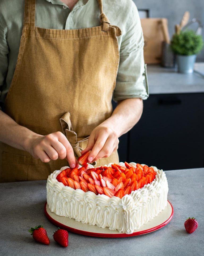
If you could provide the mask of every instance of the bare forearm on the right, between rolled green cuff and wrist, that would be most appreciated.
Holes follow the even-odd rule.
[[[128,132],[141,118],[143,101],[140,98],[129,98],[118,102],[110,118],[101,125],[111,128],[118,137]]]

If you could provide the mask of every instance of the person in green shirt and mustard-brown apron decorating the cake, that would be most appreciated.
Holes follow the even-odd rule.
[[[148,97],[134,2],[0,6],[0,181],[46,179],[78,167],[88,150],[89,163],[117,163],[118,138],[138,122]]]

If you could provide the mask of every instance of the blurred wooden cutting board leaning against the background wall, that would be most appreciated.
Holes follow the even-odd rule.
[[[141,19],[141,25],[145,40],[144,58],[145,63],[161,63],[162,42],[164,38],[164,28],[168,31],[168,21],[165,18],[145,18]]]

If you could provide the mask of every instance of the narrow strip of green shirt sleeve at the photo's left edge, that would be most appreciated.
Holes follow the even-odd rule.
[[[6,27],[3,26],[0,17],[0,109],[3,97],[3,87],[8,71],[8,45],[6,41]]]

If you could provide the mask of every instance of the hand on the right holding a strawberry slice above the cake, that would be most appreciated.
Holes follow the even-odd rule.
[[[81,154],[91,150],[88,162],[97,161],[100,158],[109,157],[118,149],[119,139],[114,130],[105,125],[97,126],[89,136],[88,144]]]

